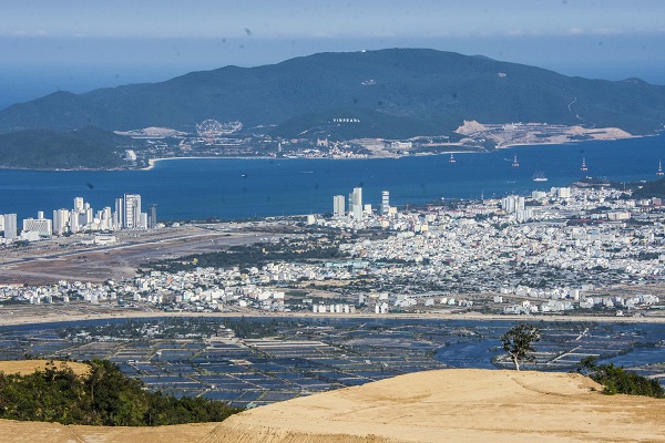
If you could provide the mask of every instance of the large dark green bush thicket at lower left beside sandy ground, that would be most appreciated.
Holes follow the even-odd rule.
[[[203,398],[176,399],[147,392],[106,360],[92,360],[90,372],[76,375],[49,363],[29,375],[0,372],[0,418],[62,424],[156,426],[216,422],[239,412]]]

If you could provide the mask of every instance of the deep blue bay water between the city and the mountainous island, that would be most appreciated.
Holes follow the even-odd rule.
[[[516,156],[520,164],[513,167]],[[232,220],[332,212],[332,196],[362,187],[362,200],[380,205],[478,199],[567,186],[584,176],[616,182],[654,181],[665,161],[665,134],[617,141],[514,146],[492,153],[366,159],[158,161],[146,171],[0,169],[0,214],[19,220],[43,210],[72,208],[83,197],[98,210],[123,194],[140,194],[143,210],[157,205],[160,220]],[[582,172],[582,161],[589,171]],[[534,182],[542,173],[548,182]],[[19,223],[20,224],[20,223]]]

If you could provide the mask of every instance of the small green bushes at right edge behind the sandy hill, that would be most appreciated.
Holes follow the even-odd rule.
[[[657,380],[626,372],[623,368],[615,367],[614,363],[598,365],[596,357],[582,359],[577,371],[601,383],[603,393],[607,395],[630,394],[665,398],[665,390]]]

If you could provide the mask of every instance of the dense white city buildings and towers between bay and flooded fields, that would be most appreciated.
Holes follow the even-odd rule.
[[[222,267],[174,258],[170,265],[146,264],[122,281],[8,284],[0,293],[31,303],[80,298],[198,312],[645,316],[661,308],[665,214],[659,198],[636,200],[630,192],[607,187],[554,187],[528,197],[415,209],[390,206],[388,190],[380,198],[375,210],[357,187],[348,208],[347,198],[336,195],[331,214],[254,223],[257,231],[278,227],[285,233],[267,243],[257,238],[254,248],[264,255],[267,248],[316,251],[306,258],[296,254],[237,264],[232,258],[232,266]],[[75,198],[72,210],[53,212],[52,228],[41,214],[23,220],[19,238],[30,245],[49,238],[52,229],[85,250],[114,244],[115,229],[171,229],[156,223],[154,205],[141,212],[139,195],[117,198],[114,212],[106,207],[92,214]],[[3,218],[6,241],[11,241],[11,216]],[[225,225],[212,226],[224,230]],[[321,249],[334,254],[324,257]],[[182,269],[175,270],[174,262]]]

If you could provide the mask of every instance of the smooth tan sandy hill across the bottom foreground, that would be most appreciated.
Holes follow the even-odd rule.
[[[0,421],[0,442],[665,442],[665,400],[598,390],[572,373],[440,370],[257,408],[223,423]]]

